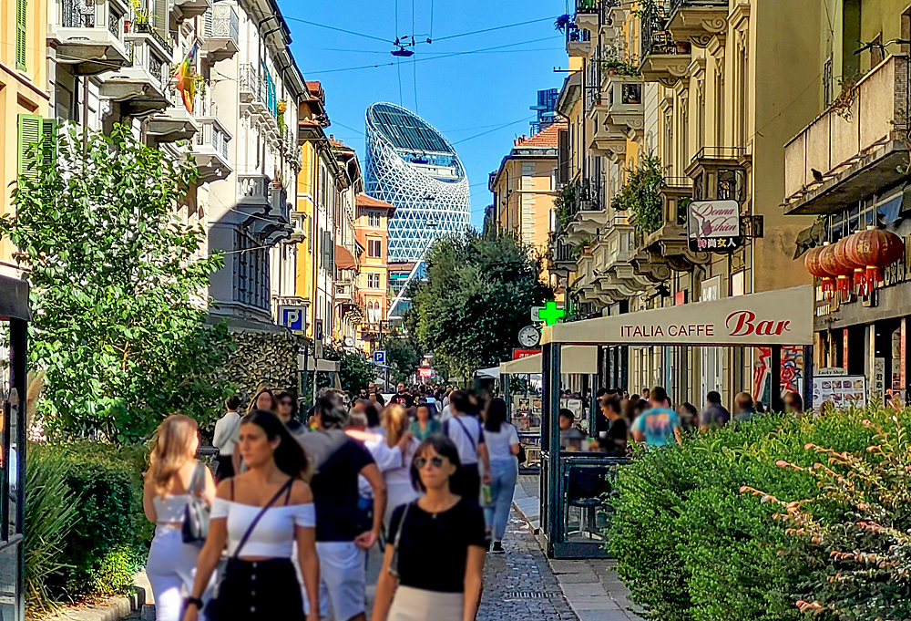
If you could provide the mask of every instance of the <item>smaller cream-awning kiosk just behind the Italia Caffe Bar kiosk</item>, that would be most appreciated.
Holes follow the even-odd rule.
[[[598,373],[598,347],[570,346],[567,349],[562,373],[587,376],[589,386],[594,386]],[[500,390],[509,408],[509,422],[516,427],[519,444],[525,449],[526,454],[526,461],[519,467],[519,472],[537,474],[541,469],[541,421],[544,405],[539,388],[541,354],[504,362],[500,365],[499,371]],[[576,422],[580,423],[583,429],[594,429],[594,418],[598,415],[598,410],[595,408],[593,397],[589,407],[585,409],[582,408],[580,400],[567,398],[561,400],[560,407],[576,413]]]

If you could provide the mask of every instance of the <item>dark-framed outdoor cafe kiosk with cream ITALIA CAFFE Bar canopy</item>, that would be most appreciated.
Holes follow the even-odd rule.
[[[803,346],[804,403],[813,404],[814,289],[810,285],[548,326],[541,335],[543,417],[541,533],[548,556],[606,556],[612,482],[626,458],[560,449],[560,373],[572,345],[771,347],[772,386],[781,348]],[[776,360],[779,361],[776,364]],[[780,391],[773,409],[781,411]]]

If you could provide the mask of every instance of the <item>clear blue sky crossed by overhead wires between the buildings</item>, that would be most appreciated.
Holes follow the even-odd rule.
[[[565,39],[553,25],[556,16],[568,12],[566,3],[414,0],[413,5],[410,0],[280,0],[280,4],[292,29],[298,66],[305,78],[322,81],[326,90],[326,109],[332,120],[328,131],[356,149],[363,161],[363,113],[371,103],[391,101],[415,110],[455,143],[472,186],[471,220],[480,226],[484,208],[491,201],[487,173],[496,170],[514,138],[528,133],[528,122],[535,114],[528,107],[536,103],[537,90],[559,88],[566,77],[553,71],[567,67]],[[396,36],[430,36],[431,13],[434,42],[413,48],[414,57],[401,61],[393,57],[389,52]],[[384,40],[336,32],[295,18]],[[532,20],[542,21],[444,38]],[[476,51],[492,47],[498,49]],[[472,53],[443,57],[457,52]],[[384,63],[394,64],[335,70]]]

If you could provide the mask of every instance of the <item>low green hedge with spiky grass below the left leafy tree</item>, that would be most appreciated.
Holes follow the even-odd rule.
[[[30,605],[115,595],[133,584],[152,533],[142,513],[146,453],[142,446],[87,441],[29,447],[26,575]],[[66,519],[61,519],[61,512]],[[56,525],[61,522],[65,525]],[[52,527],[53,537],[42,533]]]

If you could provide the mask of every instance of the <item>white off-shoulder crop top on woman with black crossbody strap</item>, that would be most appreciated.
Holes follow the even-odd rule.
[[[228,555],[233,556],[244,533],[262,511],[252,504],[216,498],[212,503],[211,518],[228,519]],[[270,507],[256,524],[247,543],[243,544],[241,558],[263,556],[266,558],[291,558],[294,547],[294,528],[316,526],[316,509],[312,502]]]

